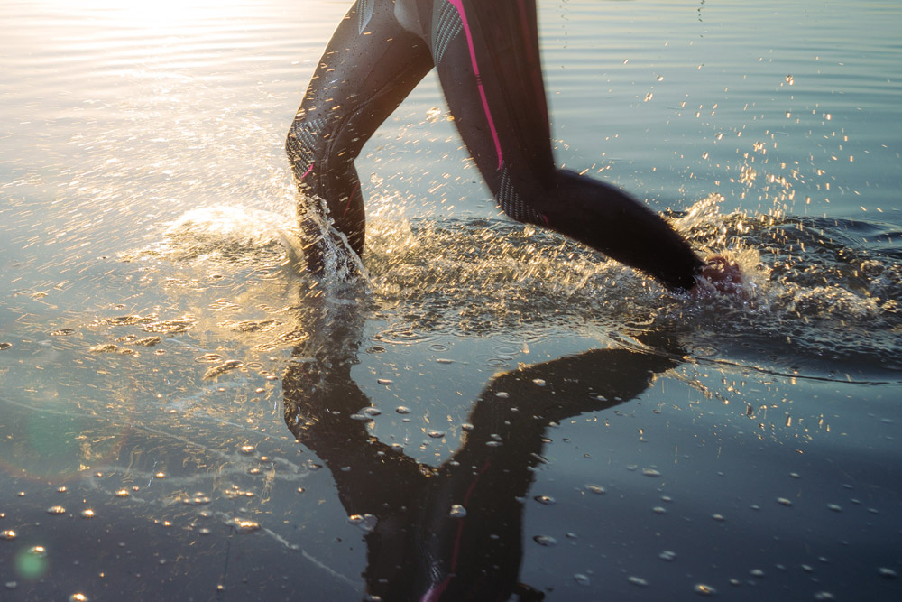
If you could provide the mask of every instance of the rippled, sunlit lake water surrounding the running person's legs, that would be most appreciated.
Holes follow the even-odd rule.
[[[315,282],[348,2],[0,2],[0,597],[902,598],[902,6],[539,5],[557,161],[741,299],[504,218],[431,77]]]

